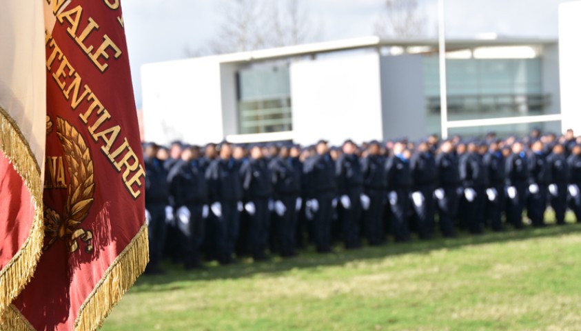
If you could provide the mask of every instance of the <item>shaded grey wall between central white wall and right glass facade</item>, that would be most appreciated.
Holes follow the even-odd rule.
[[[420,55],[381,57],[385,139],[416,140],[428,134],[422,61]]]

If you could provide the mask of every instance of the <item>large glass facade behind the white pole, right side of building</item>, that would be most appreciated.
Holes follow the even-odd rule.
[[[425,57],[424,90],[428,132],[440,132],[440,75],[438,57]],[[551,102],[542,92],[541,60],[447,59],[449,121],[544,114]],[[502,126],[524,133],[530,126]],[[491,130],[491,128],[488,128]],[[511,130],[516,130],[511,131]],[[466,128],[462,133],[482,133]]]

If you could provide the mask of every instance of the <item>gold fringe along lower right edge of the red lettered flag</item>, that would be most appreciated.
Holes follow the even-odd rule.
[[[143,273],[148,262],[147,225],[143,224],[81,305],[79,315],[74,321],[74,330],[100,328],[110,310]]]

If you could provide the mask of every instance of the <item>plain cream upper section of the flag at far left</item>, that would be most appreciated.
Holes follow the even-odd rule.
[[[43,2],[0,0],[0,107],[29,138],[39,165],[46,135]]]

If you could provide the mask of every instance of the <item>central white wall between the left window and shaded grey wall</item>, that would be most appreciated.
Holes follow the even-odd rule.
[[[379,70],[375,52],[292,63],[294,140],[383,139]]]

